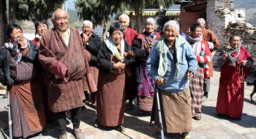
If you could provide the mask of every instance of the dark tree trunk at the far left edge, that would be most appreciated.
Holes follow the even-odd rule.
[[[6,12],[6,1],[5,0],[0,0],[0,48],[4,46],[4,34],[5,34],[5,29],[4,25],[7,24],[7,12]]]

